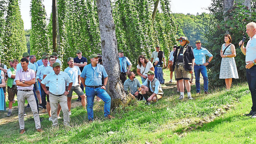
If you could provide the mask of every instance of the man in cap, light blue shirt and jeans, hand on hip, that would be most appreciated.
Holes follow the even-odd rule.
[[[208,92],[208,75],[206,66],[212,61],[213,55],[206,49],[203,48],[200,40],[196,41],[196,48],[193,49],[195,55],[195,65],[194,72],[196,76],[196,94],[200,93],[200,72],[204,78],[204,93],[209,94]],[[206,55],[209,57],[209,60],[206,61]]]

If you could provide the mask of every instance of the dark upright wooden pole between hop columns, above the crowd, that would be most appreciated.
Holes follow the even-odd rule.
[[[56,19],[56,3],[57,0],[52,0],[52,49],[53,52],[57,51],[57,19]]]

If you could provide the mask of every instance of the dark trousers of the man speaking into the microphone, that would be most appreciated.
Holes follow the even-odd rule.
[[[252,111],[256,111],[256,65],[246,69],[246,78],[252,95]]]

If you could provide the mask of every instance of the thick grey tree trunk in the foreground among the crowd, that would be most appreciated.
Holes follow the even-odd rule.
[[[107,92],[111,97],[111,108],[126,102],[123,84],[120,80],[116,26],[112,16],[110,0],[97,0],[103,66],[108,73]]]

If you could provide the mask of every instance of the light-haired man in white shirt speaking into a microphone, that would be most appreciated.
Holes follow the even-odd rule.
[[[239,42],[241,46],[241,51],[245,55],[245,68],[246,68],[246,77],[249,85],[249,89],[252,95],[252,110],[249,114],[245,116],[251,116],[252,118],[256,117],[256,23],[250,22],[246,25],[246,33],[250,37],[250,40],[247,42],[246,47],[244,47],[243,41]]]

